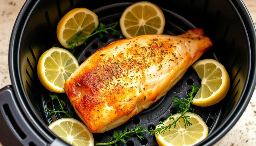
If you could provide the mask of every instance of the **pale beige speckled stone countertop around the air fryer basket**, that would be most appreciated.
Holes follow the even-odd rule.
[[[256,0],[243,0],[256,25]],[[8,49],[10,36],[25,0],[0,0],[0,88],[10,85]],[[256,145],[256,92],[236,125],[220,140],[217,146]],[[1,145],[1,143],[0,143]]]

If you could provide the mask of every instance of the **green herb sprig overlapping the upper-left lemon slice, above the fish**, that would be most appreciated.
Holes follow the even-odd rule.
[[[84,44],[86,44],[86,41],[87,41],[90,37],[92,37],[92,36],[94,36],[94,35],[96,35],[96,34],[98,34],[98,33],[99,33],[100,39],[103,39],[103,34],[102,34],[102,32],[109,33],[109,32],[108,32],[109,30],[112,30],[112,31],[113,31],[113,36],[114,36],[114,35],[119,35],[118,31],[115,30],[115,28],[116,28],[117,25],[118,25],[118,22],[116,22],[114,26],[106,27],[106,25],[104,25],[103,23],[100,23],[100,27],[94,28],[94,30],[95,30],[94,33],[92,33],[92,34],[89,35],[89,36],[85,36],[85,37],[82,37],[82,33],[83,33],[83,32],[80,31],[79,33],[77,33],[77,37],[74,38],[74,41],[70,41],[70,42],[68,43],[68,46],[70,46],[70,47],[72,47],[72,49],[74,49],[74,48],[79,44],[79,42],[84,42]]]

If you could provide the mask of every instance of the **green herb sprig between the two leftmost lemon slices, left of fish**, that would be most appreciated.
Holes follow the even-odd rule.
[[[61,111],[49,110],[48,107],[46,107],[47,110],[46,110],[45,112],[46,112],[46,113],[47,113],[47,112],[50,112],[50,113],[49,113],[49,117],[51,117],[52,114],[56,115],[56,113],[64,113],[64,114],[66,114],[69,118],[71,118],[71,117],[72,117],[71,115],[74,114],[74,113],[70,113],[70,112],[68,112],[68,111],[66,111],[66,110],[64,109],[64,106],[66,106],[66,103],[65,103],[63,100],[59,99],[58,95],[56,95],[56,94],[53,94],[53,95],[50,94],[50,96],[51,96],[51,100],[54,100],[54,99],[58,100],[58,102],[59,102],[59,105],[58,105],[58,106],[60,106]]]

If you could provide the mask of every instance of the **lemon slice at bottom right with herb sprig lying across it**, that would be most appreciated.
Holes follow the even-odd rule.
[[[190,122],[193,123],[192,126],[186,126],[181,118],[177,121],[177,125],[174,128],[172,126],[170,130],[166,130],[164,133],[156,134],[157,143],[160,146],[181,146],[181,145],[195,145],[196,143],[204,140],[208,136],[208,127],[204,120],[194,113],[187,112],[186,116],[190,116]],[[173,115],[174,119],[178,119],[181,116],[181,113]],[[174,122],[173,119],[167,119],[163,122],[164,125],[167,126],[170,123]],[[160,126],[157,125],[156,127]]]

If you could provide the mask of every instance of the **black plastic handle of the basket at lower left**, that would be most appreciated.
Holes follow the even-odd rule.
[[[47,145],[30,126],[15,99],[12,86],[0,89],[0,141],[4,146]]]

